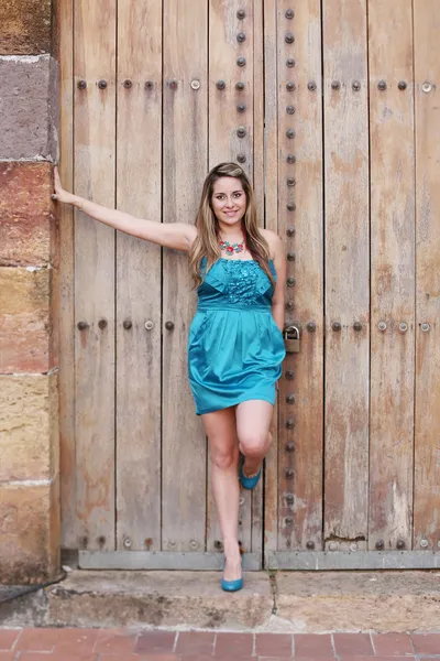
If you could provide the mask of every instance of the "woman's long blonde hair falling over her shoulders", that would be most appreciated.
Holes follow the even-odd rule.
[[[200,205],[196,216],[197,238],[193,243],[189,256],[189,268],[195,284],[197,286],[202,282],[200,264],[204,257],[207,258],[207,272],[221,257],[219,246],[219,221],[212,210],[211,199],[215,183],[223,176],[238,178],[243,186],[246,196],[246,210],[242,218],[245,245],[252,254],[252,258],[258,262],[274,284],[274,278],[268,267],[271,257],[270,248],[257,226],[255,199],[251,182],[243,169],[237,163],[220,163],[219,165],[216,165],[205,180]]]

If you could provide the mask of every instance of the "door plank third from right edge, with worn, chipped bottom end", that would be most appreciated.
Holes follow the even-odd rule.
[[[365,549],[369,489],[366,2],[323,0],[326,541]],[[340,89],[331,83],[339,82]],[[354,85],[354,88],[353,88]],[[359,89],[356,88],[359,85]],[[341,324],[333,330],[332,324]],[[362,324],[355,330],[354,323]],[[334,546],[332,546],[334,548]]]

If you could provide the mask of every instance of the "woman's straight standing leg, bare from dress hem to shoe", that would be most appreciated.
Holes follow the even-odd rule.
[[[224,578],[241,577],[239,550],[240,485],[238,478],[239,443],[233,408],[205,413],[205,431],[209,440],[212,490],[223,535]]]

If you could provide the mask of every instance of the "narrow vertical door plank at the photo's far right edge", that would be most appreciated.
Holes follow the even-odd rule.
[[[414,0],[416,79],[416,549],[440,529],[440,6]],[[428,324],[428,326],[424,325]],[[429,329],[428,329],[429,328]]]

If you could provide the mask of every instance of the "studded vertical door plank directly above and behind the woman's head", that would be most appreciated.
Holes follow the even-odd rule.
[[[244,11],[244,18],[238,17]],[[240,42],[238,35],[243,34]],[[244,57],[244,66],[239,58]],[[222,80],[224,88],[217,84]],[[237,83],[243,83],[239,90]],[[238,110],[244,105],[244,112]],[[244,129],[243,137],[238,136]],[[251,0],[210,0],[209,2],[209,167],[223,161],[239,162],[253,181],[254,147],[254,3]],[[245,162],[240,162],[240,158]],[[260,171],[258,171],[260,172]],[[262,489],[262,485],[258,486]],[[260,499],[261,500],[261,499]],[[255,506],[257,496],[255,497]],[[261,502],[258,505],[261,508]],[[260,512],[255,511],[257,517]],[[218,549],[220,525],[213,502],[210,468],[208,479],[208,551]],[[241,492],[239,538],[252,551],[252,494]]]

